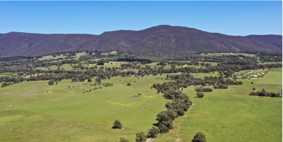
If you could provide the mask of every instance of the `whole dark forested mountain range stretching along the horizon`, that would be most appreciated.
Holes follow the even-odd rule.
[[[188,27],[159,25],[144,30],[91,34],[0,34],[1,57],[60,51],[282,52],[281,35],[229,36]]]

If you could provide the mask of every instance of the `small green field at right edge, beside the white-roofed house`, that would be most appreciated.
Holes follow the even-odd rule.
[[[271,69],[258,82],[258,84],[279,84],[279,83],[282,83],[282,67]]]

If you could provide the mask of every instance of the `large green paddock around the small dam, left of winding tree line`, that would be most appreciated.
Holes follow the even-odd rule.
[[[134,141],[137,132],[147,132],[157,113],[166,110],[166,99],[150,89],[153,83],[168,81],[157,77],[112,77],[102,83],[114,86],[96,86],[102,89],[85,94],[93,82],[37,81],[1,88],[0,141]],[[138,93],[142,95],[129,97]],[[13,108],[5,109],[8,106]],[[115,119],[125,128],[112,129]]]

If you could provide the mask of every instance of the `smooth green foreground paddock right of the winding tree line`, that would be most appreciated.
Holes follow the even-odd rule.
[[[194,87],[184,88],[183,93],[194,103],[188,116],[179,117],[172,131],[153,142],[191,141],[197,132],[203,132],[209,142],[282,141],[282,97],[258,98],[219,90],[223,93],[196,98]]]

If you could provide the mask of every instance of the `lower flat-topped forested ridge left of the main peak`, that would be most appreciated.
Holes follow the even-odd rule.
[[[95,36],[92,34],[9,32],[0,34],[0,56],[42,55],[65,51]]]

